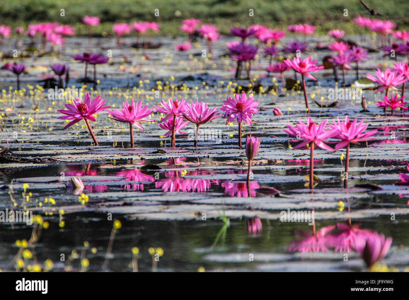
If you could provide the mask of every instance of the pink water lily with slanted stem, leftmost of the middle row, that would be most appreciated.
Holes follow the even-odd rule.
[[[92,132],[92,129],[91,129],[91,126],[88,120],[95,121],[95,117],[92,115],[99,113],[100,111],[103,111],[104,109],[109,108],[109,106],[103,106],[106,100],[102,101],[101,96],[97,96],[97,98],[91,101],[90,94],[87,93],[85,95],[84,102],[82,102],[79,98],[73,101],[74,101],[74,105],[70,103],[65,103],[65,107],[67,108],[67,110],[64,110],[64,109],[58,110],[59,113],[63,113],[66,116],[61,116],[61,117],[58,117],[57,119],[72,120],[67,125],[65,125],[63,129],[66,129],[81,120],[85,120],[85,124],[87,124],[92,140],[94,140],[95,146],[98,146],[98,142],[95,139],[94,133]]]

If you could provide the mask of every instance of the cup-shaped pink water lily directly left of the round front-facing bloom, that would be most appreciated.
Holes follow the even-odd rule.
[[[218,107],[209,109],[207,103],[199,102],[196,100],[196,104],[191,102],[190,104],[184,104],[184,111],[182,111],[182,116],[189,122],[196,124],[196,135],[194,147],[198,146],[198,131],[201,124],[205,124],[211,120],[220,117],[222,114],[217,115]]]

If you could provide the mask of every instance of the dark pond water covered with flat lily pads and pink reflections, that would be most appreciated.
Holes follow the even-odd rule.
[[[317,39],[308,40],[310,47]],[[92,40],[98,45],[93,51],[115,50],[109,64],[98,66],[101,84],[93,91],[81,86],[83,65],[70,59],[74,49],[86,51],[87,42],[68,38],[65,54],[25,59],[30,68],[22,78],[22,94],[8,88],[14,84],[13,77],[3,78],[1,146],[16,161],[0,161],[0,210],[12,209],[16,203],[14,209],[33,211],[49,225],[38,242],[31,244],[35,255],[27,259],[28,264],[38,262],[45,267],[44,262],[51,260],[54,271],[79,271],[81,259],[88,258],[88,271],[133,271],[131,250],[137,247],[139,271],[366,271],[359,253],[339,249],[343,240],[337,244],[311,239],[313,232],[319,235],[321,229],[338,224],[331,233],[337,236],[342,224],[352,224],[392,237],[382,264],[407,269],[409,186],[395,182],[400,180],[399,173],[407,173],[409,114],[398,111],[395,116],[384,116],[374,104],[380,94],[364,90],[370,112],[362,112],[361,104],[352,99],[321,108],[312,98],[328,97],[328,89],[335,87],[332,72],[322,71],[317,82],[307,81],[308,116],[332,122],[347,113],[350,119],[363,118],[369,124],[367,130],[378,129],[373,140],[351,147],[348,189],[343,188],[345,159],[340,158],[345,149],[334,153],[316,149],[314,171],[319,183],[310,191],[306,178],[310,152],[294,149],[297,142],[282,130],[286,124],[306,119],[303,95],[283,89],[279,78],[278,93],[254,93],[259,112],[253,116],[252,127],[243,127],[243,142],[250,133],[261,138],[249,184],[248,161],[244,149],[237,146],[236,123],[226,126],[220,117],[202,125],[207,138],[199,140],[198,147],[193,147],[194,127],[188,124],[171,148],[169,138],[163,137],[166,131],[157,122],[146,122],[144,131],[135,129],[135,148],[130,148],[128,128],[100,113],[92,122],[99,142],[95,147],[85,123],[63,130],[65,123],[56,119],[60,116],[56,110],[63,109],[65,100],[49,99],[47,90],[35,87],[47,74],[44,68],[58,60],[70,64],[70,84],[90,92],[92,98],[101,94],[117,108],[125,100],[144,100],[153,107],[160,98],[175,96],[220,107],[222,100],[233,95],[233,87],[249,83],[231,78],[235,63],[222,56],[229,40],[216,42],[214,60],[203,61],[198,57],[200,44],[188,53],[173,51],[179,39],[158,39],[162,47],[145,50],[149,60],[142,60],[142,53],[135,55],[129,47],[115,49],[114,40],[107,38],[103,45]],[[130,42],[125,39],[125,44]],[[371,46],[370,41],[367,45]],[[309,54],[320,62],[328,53]],[[361,72],[391,64],[382,54],[371,54]],[[252,64],[252,74],[265,90],[276,82],[266,76],[267,62],[268,58],[260,57]],[[286,77],[293,76],[287,73]],[[354,70],[346,75],[349,83],[355,80]],[[165,87],[169,82],[160,98],[151,91],[157,80]],[[172,88],[183,83],[188,89]],[[284,116],[274,116],[275,107]],[[154,113],[154,118],[159,120],[160,114]],[[67,187],[74,176],[83,181],[83,190]],[[281,213],[288,210],[314,211],[314,226],[281,222]],[[114,220],[121,222],[115,235]],[[0,222],[0,269],[16,269],[16,241],[29,241],[33,228],[37,230],[36,225]],[[150,248],[156,250],[150,253]],[[155,251],[162,254],[159,248],[163,255],[155,261]]]

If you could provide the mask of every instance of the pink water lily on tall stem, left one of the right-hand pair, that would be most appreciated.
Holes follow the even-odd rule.
[[[328,119],[322,121],[321,124],[317,126],[317,123],[312,122],[311,118],[308,118],[307,124],[299,120],[296,127],[287,125],[288,129],[283,129],[283,131],[290,136],[304,140],[294,148],[300,148],[306,144],[310,144],[310,189],[314,188],[314,145],[317,145],[321,149],[335,151],[324,143],[324,140],[332,138],[338,133],[337,129],[326,130],[325,125],[327,122]]]

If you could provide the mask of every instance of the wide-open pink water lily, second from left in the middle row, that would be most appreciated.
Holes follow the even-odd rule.
[[[112,120],[118,122],[129,123],[129,133],[130,133],[130,147],[134,147],[133,143],[133,127],[145,130],[144,127],[139,124],[138,122],[153,122],[155,119],[146,119],[149,116],[153,109],[148,109],[148,105],[142,107],[142,101],[139,101],[135,104],[135,101],[132,100],[131,105],[128,104],[128,101],[122,102],[124,104],[124,108],[119,106],[119,109],[113,109],[112,111],[107,110],[112,117],[108,117]]]

